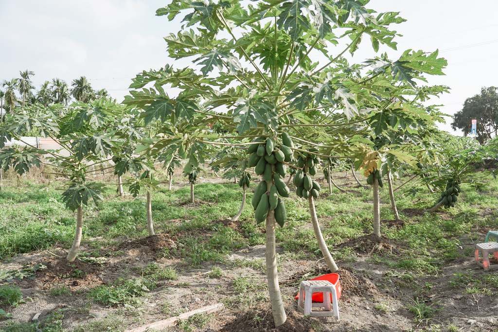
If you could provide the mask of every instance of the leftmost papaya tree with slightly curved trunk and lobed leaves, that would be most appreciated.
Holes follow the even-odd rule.
[[[58,115],[63,113],[64,116]],[[55,150],[41,150],[25,143],[29,148],[24,153],[44,154],[46,161],[40,161],[30,155],[24,156],[19,164],[15,162],[15,153],[8,149],[3,151],[10,156],[3,159],[3,165],[10,164],[26,171],[29,167],[48,164],[59,169],[59,174],[69,178],[63,185],[62,201],[66,207],[77,213],[76,231],[67,260],[74,261],[78,253],[83,229],[83,205],[92,201],[99,204],[102,201],[103,184],[87,181],[91,171],[89,166],[95,166],[109,161],[108,156],[114,154],[119,146],[119,137],[116,132],[108,130],[115,117],[120,116],[120,108],[110,101],[95,101],[89,104],[73,103],[64,110],[45,108],[39,105],[19,109],[10,114],[8,126],[2,127],[3,137],[14,137],[20,141],[21,135],[34,131],[37,136],[51,137],[56,140],[67,152],[61,154]],[[3,147],[4,140],[0,140]],[[9,161],[7,161],[9,160]],[[18,173],[21,171],[18,169]]]

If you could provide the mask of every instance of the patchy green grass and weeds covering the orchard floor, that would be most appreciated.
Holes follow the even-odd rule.
[[[1,188],[0,259],[5,260],[17,254],[36,250],[52,250],[54,246],[65,249],[71,246],[75,216],[61,203],[60,192],[55,190],[56,185],[57,183],[38,184],[24,181],[21,187]],[[387,227],[386,223],[381,224],[381,233],[384,237],[400,242],[405,247],[402,247],[397,254],[382,251],[369,258],[369,262],[388,268],[390,274],[386,273],[386,282],[399,280],[413,284],[421,274],[436,275],[448,262],[472,256],[472,248],[462,249],[462,246],[467,242],[484,240],[485,235],[478,232],[478,226],[498,228],[498,200],[493,194],[498,191],[497,180],[485,179],[483,191],[475,191],[469,185],[463,184],[463,192],[457,207],[444,210],[442,214],[404,216],[403,209],[427,208],[437,197],[437,194],[424,194],[426,188],[423,186],[416,188],[419,192],[415,196],[402,190],[395,193],[401,219],[405,221],[404,226],[396,228]],[[326,186],[322,186],[322,192],[327,192]],[[383,203],[380,210],[381,219],[392,220],[387,190],[385,188],[381,190],[380,195]],[[84,208],[83,242],[89,245],[90,250],[82,253],[82,257],[110,259],[109,257],[119,256],[123,252],[118,249],[115,251],[101,249],[120,244],[125,236],[131,238],[147,236],[144,196],[122,200],[115,197],[115,188],[110,186],[104,191],[104,197],[105,201],[99,207]],[[166,259],[176,259],[176,265],[163,267],[164,263],[158,261],[140,269],[130,267],[130,271],[138,272],[141,278],[136,278],[136,275],[124,276],[124,279],[117,283],[89,290],[87,293],[89,300],[104,306],[136,307],[139,306],[141,298],[156,284],[162,280],[180,279],[183,271],[191,267],[207,268],[205,271],[209,271],[207,276],[211,279],[224,277],[225,273],[218,265],[228,265],[230,269],[249,268],[258,276],[265,273],[266,266],[263,259],[228,260],[230,254],[240,249],[262,245],[265,242],[264,225],[255,224],[254,213],[249,204],[252,192],[249,190],[247,193],[248,201],[239,219],[240,223],[237,223],[238,227],[235,229],[233,226],[228,227],[216,221],[230,218],[239,210],[242,192],[237,184],[200,183],[196,185],[197,204],[185,204],[189,197],[188,186],[173,191],[160,186],[152,195],[152,218],[156,233],[167,233],[174,238],[176,244],[176,248],[167,249],[162,256]],[[318,243],[310,224],[307,201],[298,199],[294,194],[284,201],[288,220],[284,227],[276,227],[277,245],[283,250],[278,255],[279,266],[289,259],[319,260],[321,253],[317,251]],[[347,194],[339,194],[334,188],[332,195],[316,201],[323,236],[329,248],[333,249],[331,252],[338,264],[355,262],[359,256],[364,255],[364,253],[358,254],[357,248],[338,248],[338,245],[346,240],[372,233],[371,201],[371,190],[363,188],[355,188],[354,192]],[[89,240],[95,237],[99,238]],[[78,271],[74,270],[73,273],[76,277]],[[498,289],[496,274],[490,273],[479,277],[476,275],[472,271],[459,272],[453,276],[449,286],[456,291],[469,294],[496,293]],[[178,287],[188,286],[189,284],[184,281],[178,283]],[[424,286],[419,287],[423,293]],[[234,280],[231,288],[233,291],[231,302],[229,301],[231,304],[254,306],[267,301],[264,279],[240,277]],[[247,296],[248,293],[250,296]],[[68,296],[70,293],[64,286],[55,286],[49,289],[47,294]],[[19,301],[22,301],[22,298]],[[173,312],[169,302],[162,302],[161,306],[160,310],[164,315]],[[418,321],[432,319],[439,310],[429,306],[421,298],[416,298],[407,306]],[[385,312],[383,303],[377,303],[375,308]],[[62,313],[54,314],[50,321],[52,323],[47,321],[45,325],[56,327],[60,315]],[[197,324],[187,323],[182,328],[187,329],[184,331]],[[10,324],[10,327],[14,329],[14,325]],[[93,322],[84,325],[84,328],[88,331],[125,329],[123,322],[113,320]],[[19,330],[20,327],[16,329],[9,331],[29,331]],[[50,330],[42,329],[42,331]]]

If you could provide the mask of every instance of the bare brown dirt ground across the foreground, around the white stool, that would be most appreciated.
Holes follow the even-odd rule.
[[[416,216],[419,212],[410,209],[407,216]],[[181,220],[178,220],[181,222]],[[220,222],[233,229],[240,229],[240,223],[230,220]],[[382,221],[390,227],[403,227],[403,221]],[[474,244],[461,241],[458,249],[463,253]],[[26,303],[14,308],[12,313],[16,322],[28,322],[37,313],[43,319],[56,309],[65,309],[63,327],[67,331],[82,324],[94,321],[105,321],[119,317],[124,320],[126,328],[135,328],[153,323],[175,314],[195,310],[204,306],[224,303],[223,310],[212,314],[210,320],[202,328],[191,326],[191,330],[173,328],[170,331],[194,332],[245,332],[245,331],[278,331],[278,332],[351,332],[351,331],[497,331],[498,301],[494,296],[482,293],[468,294],[465,287],[452,287],[450,282],[455,274],[472,271],[480,276],[495,271],[485,272],[472,257],[459,258],[447,263],[439,274],[432,276],[413,276],[400,269],[388,268],[385,264],[374,264],[373,254],[398,254],[410,250],[403,243],[365,235],[346,240],[338,248],[350,247],[356,253],[356,261],[338,261],[338,273],[342,286],[342,297],[339,300],[340,320],[333,317],[303,317],[297,312],[299,281],[312,278],[318,274],[330,273],[322,260],[316,259],[283,259],[279,262],[280,290],[287,312],[287,321],[274,329],[264,273],[257,268],[241,267],[251,264],[234,265],[233,262],[264,262],[265,248],[262,245],[248,247],[234,252],[226,260],[226,264],[209,264],[199,268],[185,269],[179,259],[163,257],[164,249],[175,247],[175,238],[168,234],[158,234],[141,239],[120,240],[120,243],[100,249],[103,262],[76,260],[68,263],[66,252],[52,248],[23,254],[4,260],[0,263],[2,270],[11,270],[23,265],[42,263],[47,268],[36,271],[36,278],[15,282],[19,286]],[[277,244],[278,245],[278,244]],[[88,243],[83,243],[80,253],[95,251]],[[467,252],[469,249],[467,250]],[[283,255],[283,250],[277,248]],[[86,291],[102,284],[111,284],[120,278],[140,277],[141,267],[156,262],[161,267],[175,267],[179,278],[163,280],[158,287],[142,297],[138,309],[126,311],[122,307],[106,307],[97,305],[87,299]],[[263,263],[264,264],[264,263]],[[210,278],[209,271],[216,265],[223,270],[220,278]],[[262,304],[252,305],[251,297],[257,293],[248,290],[239,294],[234,290],[234,281],[247,277],[253,283],[262,285],[260,292],[266,294]],[[65,286],[67,295],[53,295],[51,290]],[[263,287],[264,286],[264,287]],[[244,301],[237,301],[242,298]],[[417,299],[420,303],[437,309],[430,322],[416,322],[414,315],[408,311],[407,304]],[[249,301],[249,302],[248,302]],[[429,323],[427,325],[427,323]],[[0,329],[5,321],[0,321]],[[452,325],[453,330],[443,329]],[[441,329],[439,329],[439,326]],[[111,328],[102,331],[111,331]]]

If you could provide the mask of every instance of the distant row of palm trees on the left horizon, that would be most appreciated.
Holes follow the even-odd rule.
[[[20,71],[20,77],[0,82],[0,110],[4,110],[0,111],[0,114],[13,113],[18,106],[34,104],[41,104],[44,107],[50,104],[67,106],[72,98],[78,102],[88,103],[108,97],[106,89],[94,90],[85,76],[73,80],[71,87],[66,81],[54,78],[52,81],[45,81],[40,89],[36,90],[31,81],[34,75],[32,71]]]

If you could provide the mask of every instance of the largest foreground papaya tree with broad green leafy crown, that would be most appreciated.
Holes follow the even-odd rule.
[[[167,15],[169,20],[181,16],[184,24],[180,31],[165,37],[168,52],[173,59],[190,57],[197,67],[165,66],[143,72],[131,85],[132,89],[141,90],[131,91],[125,102],[140,104],[147,114],[144,116],[155,120],[168,119],[174,124],[183,117],[195,123],[197,117],[202,117],[233,130],[234,139],[262,137],[265,150],[273,142],[263,158],[276,153],[277,137],[284,131],[291,131],[294,141],[317,148],[314,155],[320,158],[365,156],[368,144],[357,137],[363,135],[359,131],[364,129],[354,124],[384,110],[381,100],[389,98],[390,90],[398,82],[412,84],[420,78],[419,73],[436,73],[442,66],[437,52],[427,55],[412,50],[403,52],[395,61],[387,55],[373,59],[367,63],[372,68],[370,71],[362,63],[365,59],[349,63],[343,55],[346,52],[354,55],[362,40],[367,40],[363,37],[370,37],[375,52],[380,44],[395,49],[396,33],[389,25],[403,22],[395,12],[374,14],[363,3],[353,0],[255,1],[247,5],[236,0],[219,3],[174,0],[156,13]],[[145,88],[149,83],[153,87]],[[177,97],[170,98],[164,87],[178,89]],[[199,101],[202,110],[197,107]],[[400,110],[404,111],[404,106]],[[208,135],[204,137],[207,141]],[[187,145],[192,142],[190,137],[182,138]],[[151,141],[147,153],[165,147],[172,139],[175,138]],[[209,144],[206,141],[199,143]],[[265,162],[268,163],[266,159]],[[195,167],[191,163],[186,165]],[[276,180],[274,174],[282,175],[276,167],[269,168],[261,200],[264,195],[269,196],[270,185],[280,185],[280,178]],[[258,169],[261,171],[261,167]],[[284,188],[288,187],[282,186],[285,195]],[[282,193],[278,192],[284,196]],[[274,196],[272,200],[274,204]],[[268,288],[274,322],[280,326],[286,315],[276,274],[275,209],[269,209],[268,197],[265,213],[264,202],[261,208],[258,202],[255,217],[261,221],[265,216]]]

